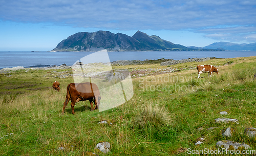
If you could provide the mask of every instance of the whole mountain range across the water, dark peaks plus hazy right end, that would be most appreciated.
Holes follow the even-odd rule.
[[[229,42],[212,43],[209,46],[185,47],[163,40],[159,36],[149,36],[137,31],[132,37],[122,33],[97,31],[79,32],[63,39],[52,51],[212,51],[212,50],[254,50],[256,43],[234,44]]]

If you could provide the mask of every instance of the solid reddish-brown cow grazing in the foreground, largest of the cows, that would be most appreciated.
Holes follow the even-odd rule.
[[[79,84],[70,83],[67,87],[67,95],[66,95],[65,102],[63,103],[62,115],[64,114],[64,110],[68,105],[69,100],[71,100],[72,114],[75,114],[74,106],[75,106],[75,103],[78,101],[89,100],[91,104],[91,111],[92,111],[98,108],[98,105],[99,105],[99,101],[100,101],[99,88],[96,84],[90,83],[90,82],[79,83]],[[94,107],[93,107],[93,100],[95,104]]]

